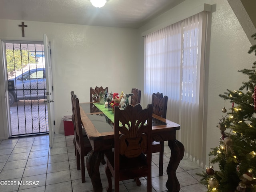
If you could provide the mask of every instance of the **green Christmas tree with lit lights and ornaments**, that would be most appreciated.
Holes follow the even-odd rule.
[[[256,33],[252,35],[256,40]],[[256,45],[249,54],[256,55]],[[209,167],[202,176],[208,192],[256,192],[256,62],[252,69],[239,70],[248,76],[247,82],[235,91],[227,90],[219,96],[229,100],[228,112],[222,108],[218,147],[209,153]],[[210,164],[218,164],[215,171]]]

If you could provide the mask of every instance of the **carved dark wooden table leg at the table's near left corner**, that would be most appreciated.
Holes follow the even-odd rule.
[[[102,192],[102,183],[100,180],[100,162],[102,161],[102,153],[98,151],[90,151],[86,156],[86,167],[92,181],[93,192]]]

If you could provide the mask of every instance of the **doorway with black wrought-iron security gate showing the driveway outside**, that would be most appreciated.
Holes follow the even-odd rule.
[[[43,42],[4,41],[10,137],[48,134]]]

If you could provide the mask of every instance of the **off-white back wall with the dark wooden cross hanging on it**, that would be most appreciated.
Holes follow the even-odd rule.
[[[62,116],[71,114],[70,91],[80,102],[89,102],[89,88],[108,86],[109,91],[129,93],[138,84],[138,40],[135,29],[24,21],[22,38],[19,20],[0,20],[1,40],[43,41],[52,46],[56,132],[63,133]],[[2,58],[0,59],[2,69]],[[4,77],[0,73],[0,139],[8,136]],[[4,104],[4,105],[3,105]],[[2,105],[2,106],[1,106]]]

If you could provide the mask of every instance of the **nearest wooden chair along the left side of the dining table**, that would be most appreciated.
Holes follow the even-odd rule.
[[[75,94],[72,95],[74,108],[74,127],[75,127],[75,142],[76,142],[76,168],[81,170],[82,183],[85,182],[85,164],[84,157],[92,150],[92,146],[88,137],[82,134],[82,122],[80,114],[79,99]]]

